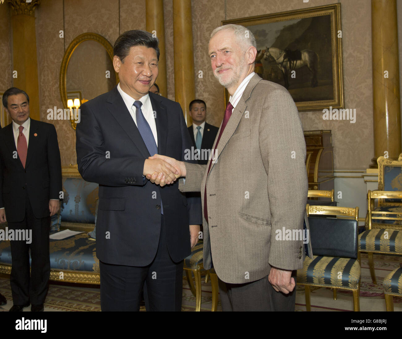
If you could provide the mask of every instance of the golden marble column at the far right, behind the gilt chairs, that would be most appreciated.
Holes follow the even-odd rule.
[[[401,153],[396,0],[371,0],[374,158]]]

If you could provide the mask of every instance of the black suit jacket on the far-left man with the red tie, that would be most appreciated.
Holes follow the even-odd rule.
[[[17,155],[10,123],[0,130],[0,208],[5,208],[7,222],[21,222],[28,195],[35,217],[45,218],[50,215],[49,199],[59,199],[62,191],[62,166],[54,125],[31,118],[25,168]]]

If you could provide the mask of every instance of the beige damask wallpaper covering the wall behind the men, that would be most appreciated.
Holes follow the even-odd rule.
[[[207,46],[211,31],[222,20],[332,4],[336,0],[192,0],[195,94],[207,103],[207,121],[219,126],[224,113],[224,90],[212,74]],[[59,95],[59,68],[64,49],[77,35],[93,32],[112,45],[119,35],[117,0],[42,0],[35,11],[39,67],[41,118],[47,109],[62,107]],[[168,98],[174,100],[173,8],[164,0]],[[371,77],[371,3],[368,0],[341,2],[343,30],[343,74],[345,108],[355,108],[356,123],[324,121],[322,112],[300,113],[303,128],[331,129],[335,169],[367,168],[373,152],[373,101]],[[0,92],[11,86],[10,20],[6,6],[0,6]],[[190,19],[190,18],[189,18]],[[63,28],[64,24],[64,28]],[[120,1],[120,32],[145,29],[145,0]],[[64,39],[59,31],[64,29]],[[399,37],[401,45],[401,35]],[[5,60],[5,62],[4,62]],[[198,77],[199,70],[203,78]],[[183,84],[185,86],[186,84]],[[70,122],[54,123],[62,166],[76,163],[75,131]]]

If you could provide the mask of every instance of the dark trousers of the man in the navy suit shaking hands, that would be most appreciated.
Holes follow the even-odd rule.
[[[143,287],[147,311],[181,310],[183,260],[176,263],[170,258],[163,216],[158,250],[150,265],[123,266],[99,261],[99,267],[102,311],[139,311]]]

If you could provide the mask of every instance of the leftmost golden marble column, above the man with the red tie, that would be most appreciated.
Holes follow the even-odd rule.
[[[35,34],[35,8],[39,4],[40,0],[8,1],[12,10],[12,82],[29,95],[30,117],[35,120],[41,119]]]

